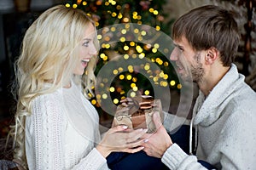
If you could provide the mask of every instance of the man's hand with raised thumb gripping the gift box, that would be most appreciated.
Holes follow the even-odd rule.
[[[172,139],[162,125],[158,114],[153,115],[153,121],[156,127],[156,132],[146,133],[143,136],[145,141],[143,144],[145,148],[143,150],[148,156],[161,158],[166,150],[172,145]]]

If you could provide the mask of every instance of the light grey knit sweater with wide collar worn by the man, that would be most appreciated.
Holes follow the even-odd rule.
[[[201,159],[218,169],[255,169],[256,94],[244,82],[236,65],[231,66],[206,99],[200,92],[193,114],[198,132],[196,156],[189,156],[172,144],[162,157],[166,166],[205,169],[197,162]]]

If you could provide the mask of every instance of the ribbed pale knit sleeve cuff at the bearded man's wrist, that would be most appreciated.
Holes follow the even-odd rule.
[[[206,170],[197,162],[196,156],[187,155],[177,144],[172,144],[162,157],[162,162],[170,169]]]

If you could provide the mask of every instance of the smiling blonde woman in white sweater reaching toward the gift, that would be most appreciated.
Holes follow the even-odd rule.
[[[98,114],[81,90],[81,82],[88,82],[87,88],[94,82],[96,47],[93,21],[63,5],[46,10],[26,31],[16,62],[18,100],[11,132],[20,167],[108,169],[111,152],[143,150],[146,129],[112,127],[100,139]]]

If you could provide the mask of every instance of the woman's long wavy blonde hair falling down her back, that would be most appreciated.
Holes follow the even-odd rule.
[[[93,20],[84,11],[56,5],[41,14],[26,31],[20,57],[15,63],[14,93],[17,98],[15,126],[10,135],[14,138],[14,161],[27,168],[25,149],[26,116],[31,114],[31,102],[41,94],[49,94],[67,85],[72,79],[82,83],[85,91],[93,94],[96,56],[90,59],[83,77],[73,75],[79,62],[78,46]],[[98,42],[95,37],[95,45]],[[51,86],[45,88],[44,84]],[[87,97],[89,97],[87,95]]]

